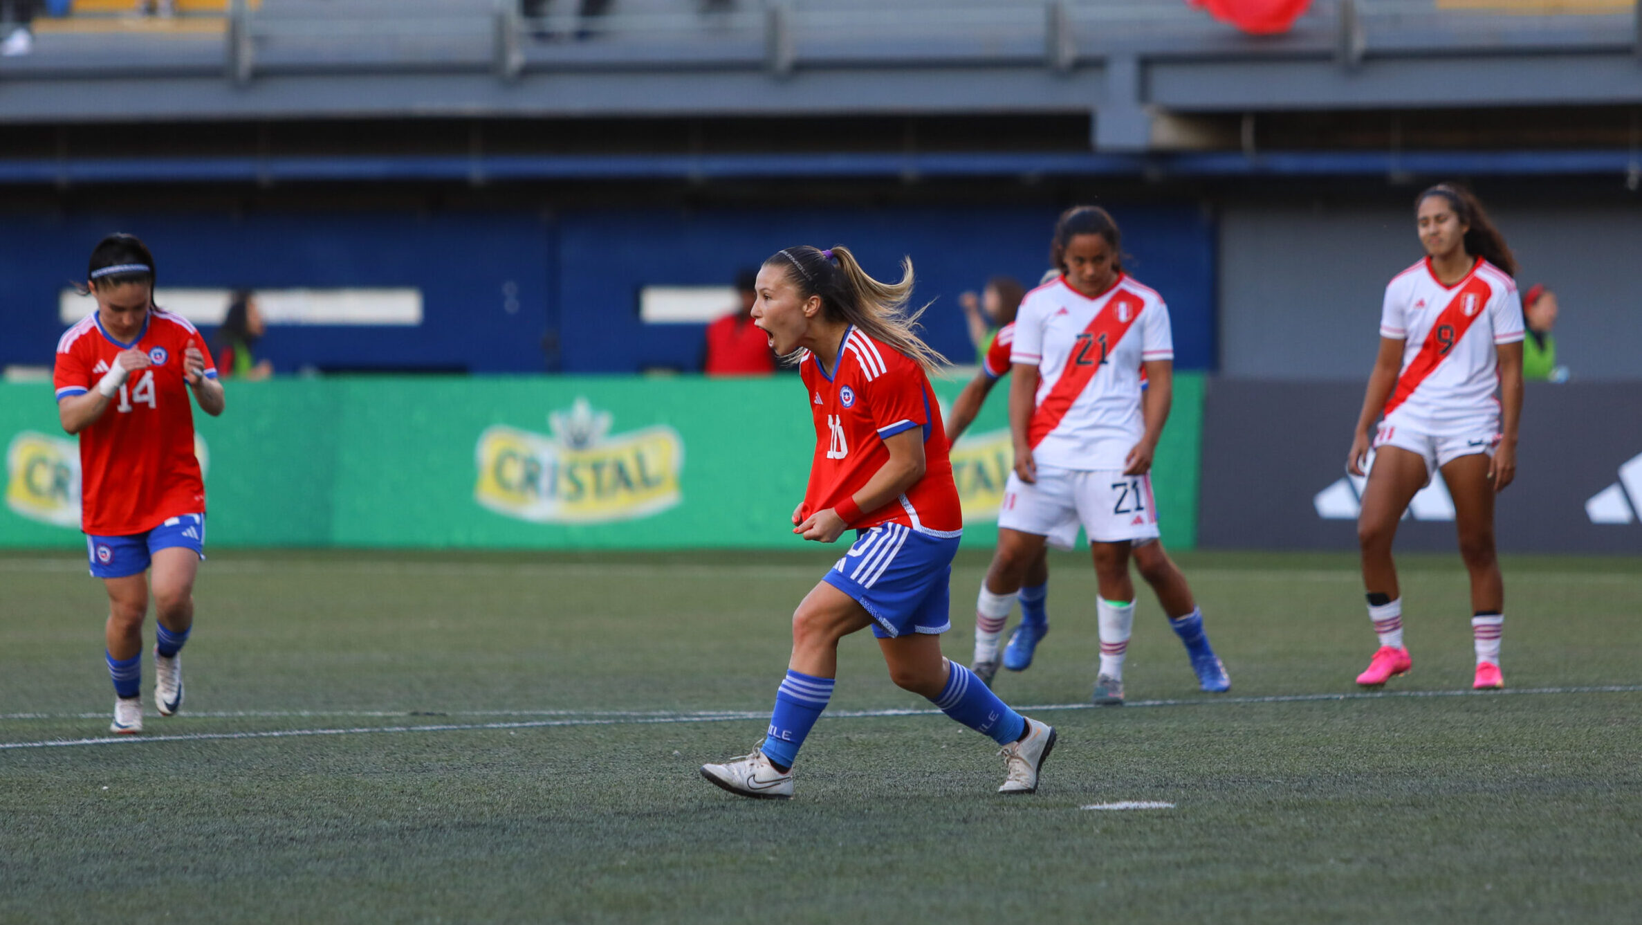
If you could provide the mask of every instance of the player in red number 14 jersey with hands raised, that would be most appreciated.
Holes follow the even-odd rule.
[[[80,437],[80,526],[92,575],[108,588],[108,674],[115,733],[143,731],[143,616],[156,605],[154,700],[182,708],[179,651],[194,626],[194,575],[205,542],[205,483],[194,457],[194,411],[222,414],[205,340],[154,306],[154,255],[131,235],[92,250],[97,311],[57,342],[62,429]]]

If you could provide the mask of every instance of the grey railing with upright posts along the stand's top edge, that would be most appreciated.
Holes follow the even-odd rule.
[[[197,72],[223,67],[225,58],[232,79],[250,81],[259,72],[491,71],[511,79],[701,67],[782,76],[852,64],[1066,71],[1110,54],[1322,54],[1353,66],[1365,56],[1642,53],[1631,0],[1319,0],[1281,36],[1241,35],[1184,0],[749,0],[683,12],[663,0],[616,0],[586,18],[562,2],[540,21],[522,20],[517,0],[194,0],[169,23],[140,30],[110,3],[71,23],[43,20],[49,41],[0,74]]]

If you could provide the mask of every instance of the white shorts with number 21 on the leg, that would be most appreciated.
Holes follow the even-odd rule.
[[[1158,509],[1151,476],[1038,467],[1038,481],[1026,485],[1010,473],[998,526],[1048,537],[1056,549],[1072,549],[1079,526],[1092,542],[1153,541]]]

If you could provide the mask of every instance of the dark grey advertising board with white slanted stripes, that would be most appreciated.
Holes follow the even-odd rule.
[[[1363,480],[1345,457],[1363,386],[1210,380],[1199,545],[1356,549]],[[1642,383],[1529,383],[1496,536],[1507,552],[1642,552]],[[1397,527],[1397,549],[1455,549],[1440,476]]]

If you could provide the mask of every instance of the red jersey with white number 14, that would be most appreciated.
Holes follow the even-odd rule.
[[[210,350],[182,315],[148,312],[141,334],[120,343],[92,314],[57,342],[57,401],[85,394],[128,348],[153,366],[131,373],[90,427],[80,430],[80,529],[92,536],[148,532],[166,518],[205,513],[205,481],[194,457],[194,407],[182,376],[184,350]]]

